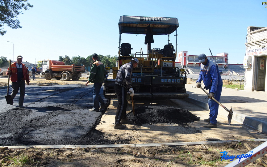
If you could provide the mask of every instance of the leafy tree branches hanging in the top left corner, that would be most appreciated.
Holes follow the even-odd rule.
[[[6,31],[1,28],[5,24],[13,29],[22,28],[17,18],[22,13],[22,9],[27,11],[33,5],[26,3],[28,0],[0,0],[0,35],[4,35]]]

